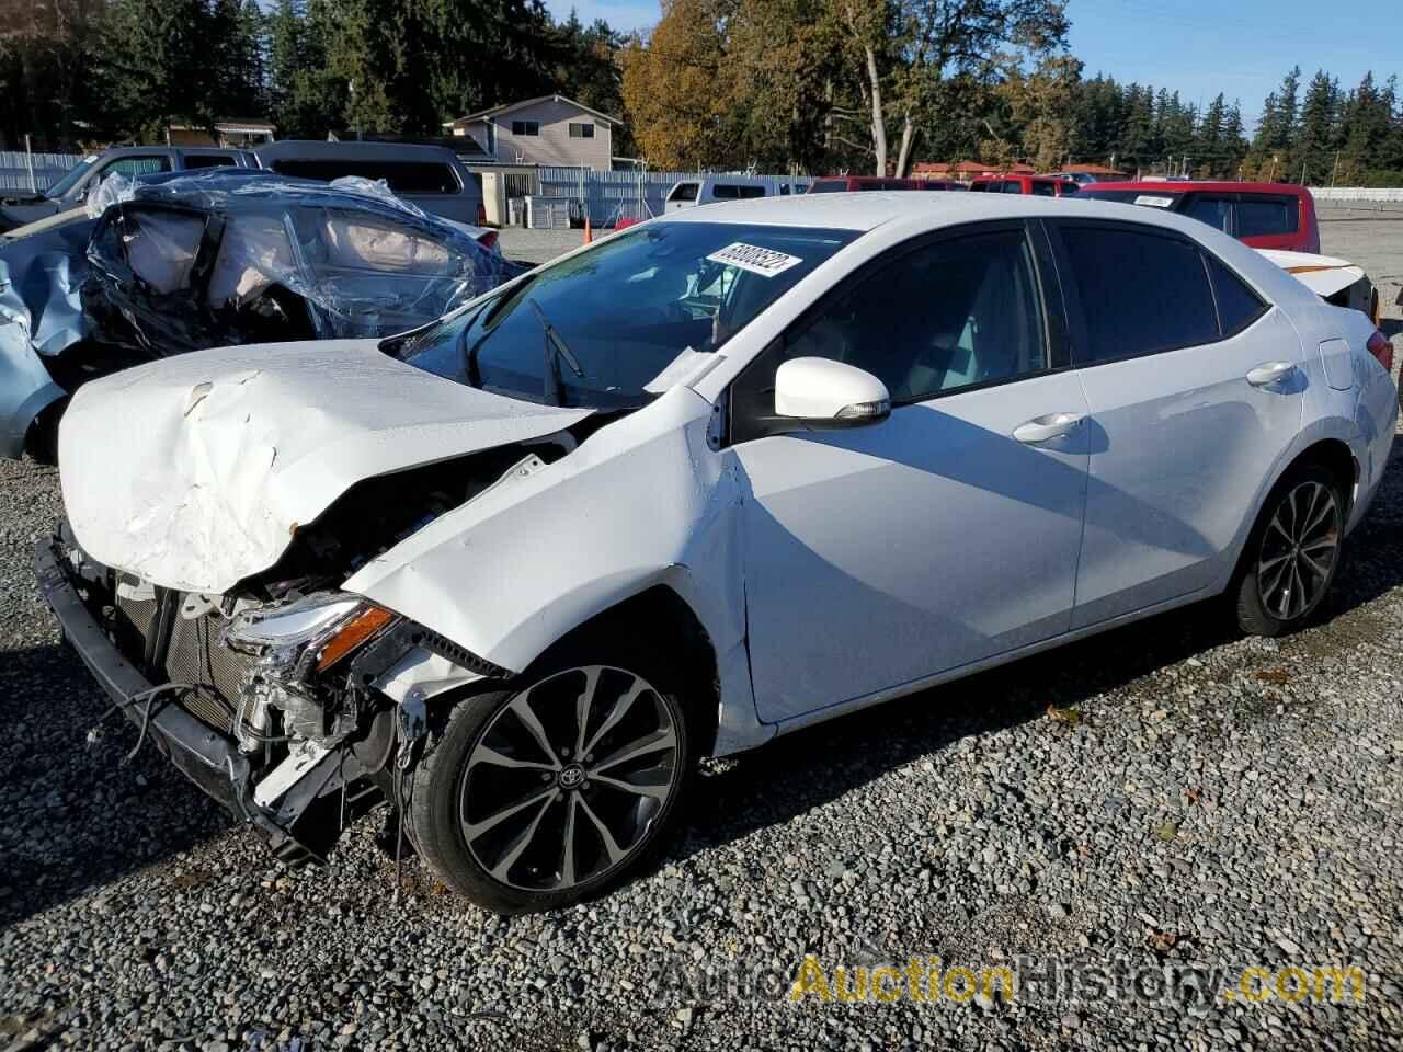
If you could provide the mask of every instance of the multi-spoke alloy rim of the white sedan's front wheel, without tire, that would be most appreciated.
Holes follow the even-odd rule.
[[[675,703],[610,665],[557,672],[511,697],[463,769],[460,828],[491,877],[563,891],[623,865],[678,788]]]

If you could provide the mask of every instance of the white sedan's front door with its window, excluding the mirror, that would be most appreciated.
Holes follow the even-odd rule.
[[[1005,223],[898,250],[732,384],[751,670],[766,722],[1069,628],[1087,407],[1065,367],[1061,297],[1044,295],[1055,292],[1045,245],[1041,227]],[[765,433],[774,370],[801,356],[878,376],[891,417]]]

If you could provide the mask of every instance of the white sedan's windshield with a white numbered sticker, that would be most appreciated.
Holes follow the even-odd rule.
[[[526,275],[410,339],[400,356],[528,401],[636,407],[673,359],[723,346],[856,236],[650,223]]]

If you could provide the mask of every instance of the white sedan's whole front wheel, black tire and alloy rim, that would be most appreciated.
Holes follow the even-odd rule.
[[[570,906],[637,871],[678,815],[686,710],[640,663],[572,663],[457,706],[410,818],[453,891],[498,913]]]

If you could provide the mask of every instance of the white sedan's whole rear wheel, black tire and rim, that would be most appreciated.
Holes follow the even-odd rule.
[[[1347,515],[1340,484],[1323,464],[1298,464],[1282,476],[1263,504],[1242,553],[1236,588],[1229,589],[1242,631],[1274,637],[1310,624],[1340,569]]]

